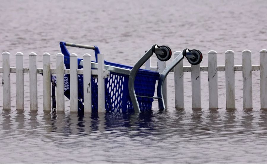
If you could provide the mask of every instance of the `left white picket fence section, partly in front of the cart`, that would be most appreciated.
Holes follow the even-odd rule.
[[[51,74],[57,75],[56,104],[58,111],[64,111],[64,74],[70,74],[70,110],[77,112],[78,107],[78,82],[77,75],[83,74],[83,69],[77,69],[77,55],[70,55],[70,69],[64,69],[64,55],[56,55],[56,69],[50,68],[50,54],[43,54],[43,69],[36,67],[36,53],[29,54],[30,68],[23,68],[23,53],[16,53],[16,68],[10,67],[9,52],[3,52],[3,67],[0,72],[3,73],[3,109],[11,108],[10,95],[10,73],[16,73],[16,108],[24,109],[24,74],[30,74],[30,110],[37,110],[37,74],[43,74],[43,109],[51,111]],[[92,111],[91,95],[91,75],[98,78],[98,112],[105,112],[105,91],[104,78],[109,76],[108,71],[104,71],[104,54],[98,54],[98,69],[91,70],[91,55],[83,55],[83,65],[86,74],[83,76],[84,86],[84,111]],[[105,74],[104,74],[105,72]],[[99,87],[101,86],[101,87]]]

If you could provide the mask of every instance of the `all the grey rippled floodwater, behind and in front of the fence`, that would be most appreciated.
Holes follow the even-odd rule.
[[[0,50],[51,54],[59,42],[97,45],[105,59],[133,66],[153,44],[218,52],[267,49],[267,1],[0,1]],[[69,48],[82,57],[93,51]],[[173,59],[173,58],[172,58]],[[2,58],[0,58],[2,63]],[[152,58],[156,66],[156,57]],[[184,60],[184,65],[189,66]],[[185,72],[185,109],[174,104],[174,74],[168,77],[167,110],[157,101],[151,114],[107,113],[84,116],[44,113],[42,76],[38,75],[38,112],[29,111],[29,76],[24,76],[25,110],[16,110],[15,74],[11,74],[12,109],[0,110],[0,163],[266,163],[267,111],[260,110],[259,71],[253,71],[253,109],[244,110],[242,72],[236,72],[236,107],[225,109],[225,72],[218,72],[219,109],[209,109],[208,76],[201,72],[202,109],[191,109],[191,75]],[[0,74],[2,78],[2,74]],[[0,106],[2,108],[2,87]]]

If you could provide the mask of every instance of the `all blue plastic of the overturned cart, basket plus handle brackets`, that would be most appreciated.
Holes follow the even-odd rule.
[[[63,42],[61,42],[63,43]],[[69,51],[66,49],[65,44],[60,44],[61,52],[64,55],[64,64],[66,69],[69,69]],[[95,55],[97,61],[97,54],[100,53],[98,47],[95,46]],[[78,69],[83,69],[80,66],[82,59],[78,58]],[[105,61],[106,65],[116,66],[120,68],[132,69],[130,66],[111,63]],[[52,76],[55,80],[56,76]],[[154,71],[148,71],[139,69],[137,72],[134,87],[136,95],[153,97],[155,93],[156,81],[159,79],[159,73]],[[105,109],[107,112],[134,112],[134,108],[131,102],[131,98],[128,91],[128,75],[118,74],[110,72],[110,77],[105,79]],[[70,99],[69,74],[64,76],[64,90],[65,96]],[[98,108],[98,90],[97,79],[91,77],[92,87],[92,112],[97,112]],[[152,107],[153,98],[137,97],[140,110],[142,112],[150,111]],[[83,75],[78,75],[78,109],[83,111]]]

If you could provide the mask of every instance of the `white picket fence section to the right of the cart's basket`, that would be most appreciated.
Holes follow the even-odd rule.
[[[217,71],[225,71],[226,108],[235,109],[235,71],[243,72],[243,108],[252,109],[252,71],[260,71],[260,107],[267,109],[267,50],[260,50],[260,65],[251,64],[251,51],[242,52],[242,65],[234,65],[234,52],[225,51],[225,66],[217,66],[217,52],[208,52],[208,66],[183,66],[181,61],[174,70],[175,108],[184,108],[184,72],[191,72],[192,108],[201,108],[201,71],[208,71],[209,108],[218,108],[218,75]],[[174,56],[176,57],[176,56]],[[163,71],[164,65],[152,67],[150,60],[146,69]],[[167,92],[167,90],[165,90]],[[167,100],[167,99],[165,99]]]

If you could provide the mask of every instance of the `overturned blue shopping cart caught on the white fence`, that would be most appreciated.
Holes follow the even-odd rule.
[[[60,42],[61,52],[64,55],[66,69],[70,67],[70,53],[66,46],[94,50],[96,61],[92,61],[92,69],[97,69],[97,54],[100,53],[97,46]],[[155,71],[140,69],[140,67],[153,55],[156,54],[161,61],[171,58],[171,49],[167,46],[153,45],[134,67],[105,61],[105,69],[110,71],[110,77],[105,79],[105,109],[107,112],[145,112],[150,111],[155,98],[159,101],[159,108],[164,109],[162,95],[163,82],[171,71],[184,57],[191,64],[199,64],[202,54],[198,50],[185,49],[175,60],[167,66],[162,74]],[[78,58],[78,69],[83,69],[83,59]],[[84,71],[86,73],[86,70]],[[158,97],[154,97],[155,85],[158,80]],[[51,82],[56,86],[56,76],[51,75]],[[64,93],[70,99],[70,76],[64,76]],[[92,88],[92,112],[97,112],[98,90],[97,78],[91,77]],[[78,111],[83,111],[83,75],[78,75]]]

